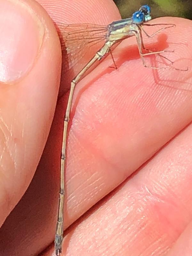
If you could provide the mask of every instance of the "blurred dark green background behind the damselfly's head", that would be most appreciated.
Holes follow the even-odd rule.
[[[143,4],[150,5],[152,18],[175,16],[192,20],[192,0],[113,0],[122,18],[128,18]]]

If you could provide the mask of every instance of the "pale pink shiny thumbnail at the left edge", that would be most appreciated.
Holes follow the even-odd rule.
[[[0,81],[15,81],[29,71],[40,51],[44,26],[24,1],[0,1]]]

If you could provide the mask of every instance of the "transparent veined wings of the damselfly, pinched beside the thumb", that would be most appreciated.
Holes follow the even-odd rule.
[[[108,26],[63,23],[55,26],[61,43],[62,73],[72,70],[75,76],[104,44]]]

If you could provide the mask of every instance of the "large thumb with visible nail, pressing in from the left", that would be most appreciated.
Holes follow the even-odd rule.
[[[51,127],[61,52],[32,0],[0,1],[0,224],[26,191]],[[0,226],[1,226],[0,225]]]

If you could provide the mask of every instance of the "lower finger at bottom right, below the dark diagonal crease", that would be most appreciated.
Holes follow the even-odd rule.
[[[192,125],[66,231],[63,255],[167,255],[192,217],[191,144]]]

